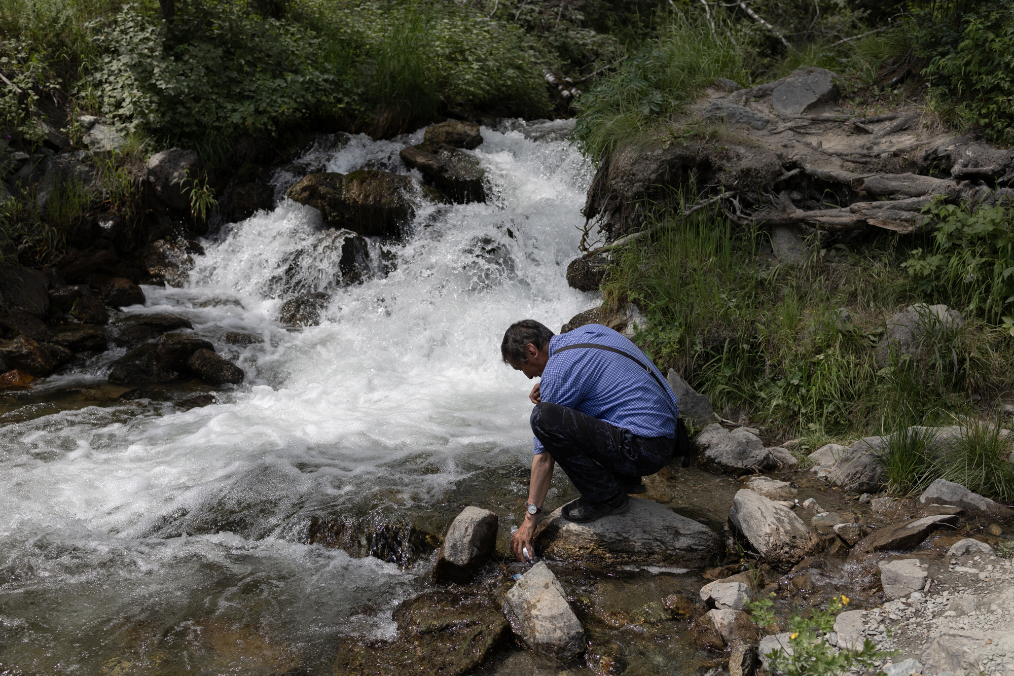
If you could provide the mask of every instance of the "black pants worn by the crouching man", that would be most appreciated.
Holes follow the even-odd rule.
[[[531,411],[531,431],[546,453],[591,502],[620,495],[626,484],[662,469],[674,440],[637,436],[572,408],[542,402]]]

